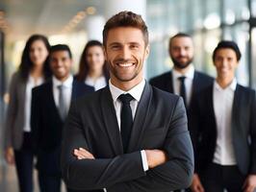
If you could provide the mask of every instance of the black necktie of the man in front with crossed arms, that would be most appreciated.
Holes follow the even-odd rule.
[[[121,136],[122,136],[122,145],[123,151],[127,151],[127,147],[130,140],[130,135],[133,127],[133,114],[130,106],[130,102],[134,99],[129,93],[121,94],[118,99],[122,103],[121,108]]]

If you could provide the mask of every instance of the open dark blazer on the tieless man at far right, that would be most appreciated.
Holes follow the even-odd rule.
[[[192,107],[192,140],[196,172],[213,162],[217,144],[217,123],[213,104],[213,84],[200,93]],[[256,174],[255,91],[237,85],[232,108],[232,139],[235,156],[244,174]],[[196,138],[199,138],[196,139]]]

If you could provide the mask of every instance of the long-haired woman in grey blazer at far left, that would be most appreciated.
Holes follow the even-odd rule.
[[[45,36],[30,36],[21,63],[13,74],[5,127],[5,155],[15,164],[20,192],[33,191],[33,145],[31,136],[32,88],[50,77],[50,44]]]

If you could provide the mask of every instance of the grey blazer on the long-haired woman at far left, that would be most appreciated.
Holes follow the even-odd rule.
[[[13,74],[10,84],[10,103],[5,122],[5,147],[20,149],[23,141],[23,127],[25,119],[26,82],[20,73]]]

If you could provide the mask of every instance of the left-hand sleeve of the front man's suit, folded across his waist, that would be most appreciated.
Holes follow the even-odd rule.
[[[86,129],[82,128],[80,115],[76,103],[73,102],[64,126],[61,157],[63,178],[69,188],[102,189],[117,182],[136,180],[145,176],[140,151],[114,158],[76,159],[72,155],[74,149],[89,149]]]

